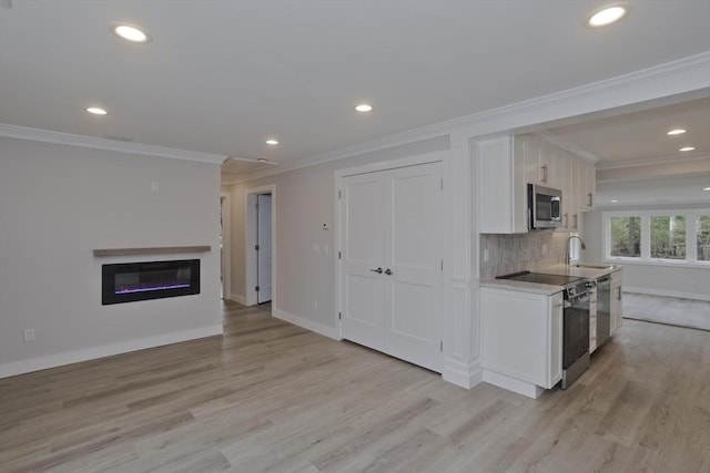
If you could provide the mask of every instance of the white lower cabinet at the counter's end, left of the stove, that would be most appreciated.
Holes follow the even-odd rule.
[[[529,398],[562,379],[562,292],[480,289],[484,381]]]

